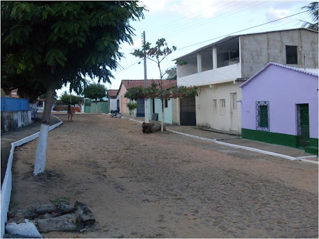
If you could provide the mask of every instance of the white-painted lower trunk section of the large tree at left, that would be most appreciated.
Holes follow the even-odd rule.
[[[49,133],[49,124],[41,124],[38,147],[35,151],[34,175],[44,172],[45,168],[45,155],[47,153],[47,140]]]

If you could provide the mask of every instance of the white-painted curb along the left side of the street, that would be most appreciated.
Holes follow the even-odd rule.
[[[51,116],[56,117],[55,115],[51,115]],[[58,117],[56,118],[59,119]],[[49,127],[49,131],[60,126],[60,124],[63,124],[63,121],[61,119],[59,120],[60,122]],[[12,174],[11,168],[13,165],[13,154],[15,151],[15,147],[24,145],[25,143],[30,142],[38,137],[39,137],[39,132],[33,133],[33,135],[30,135],[26,138],[23,138],[22,140],[18,140],[11,143],[10,156],[8,158],[8,164],[6,169],[6,176],[4,176],[2,187],[1,187],[1,238],[3,238],[4,232],[5,232],[5,224],[7,222],[7,213],[8,213],[9,204],[10,204],[12,182],[13,182],[13,174]]]

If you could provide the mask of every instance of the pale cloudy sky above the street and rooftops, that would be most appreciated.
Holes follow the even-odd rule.
[[[142,47],[143,31],[145,31],[146,42],[151,43],[151,46],[155,45],[156,40],[165,38],[168,47],[177,47],[177,51],[173,51],[161,63],[161,68],[165,70],[174,66],[173,59],[216,42],[227,35],[300,28],[302,25],[300,20],[311,22],[308,13],[298,14],[304,11],[303,6],[311,2],[142,0],[140,4],[146,6],[148,10],[144,13],[145,19],[131,22],[136,34],[133,36],[133,44],[120,45],[120,51],[124,53],[124,57],[118,61],[120,67],[117,71],[112,71],[115,78],[111,79],[111,84],[103,84],[108,90],[118,90],[122,80],[144,79],[142,59],[131,55],[134,49]],[[294,16],[288,17],[291,15]],[[283,17],[287,18],[272,22]],[[268,22],[272,23],[265,24]],[[261,24],[264,25],[258,26]],[[240,32],[236,33],[238,31]],[[147,60],[147,79],[160,79],[158,67],[151,60]],[[96,83],[97,79],[90,82]],[[69,92],[68,85],[57,90],[58,97],[65,90]]]

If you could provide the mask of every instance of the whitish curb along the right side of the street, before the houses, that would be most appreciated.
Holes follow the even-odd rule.
[[[127,118],[127,117],[123,117],[123,118],[130,119],[130,118]],[[130,120],[142,123],[142,121],[139,121],[139,120],[135,120],[135,119],[130,119]],[[187,136],[187,137],[190,137],[190,138],[197,138],[198,140],[205,140],[205,141],[209,141],[209,142],[215,142],[218,145],[226,145],[226,146],[234,147],[234,148],[238,148],[238,149],[245,149],[245,150],[249,150],[249,151],[254,151],[254,152],[257,152],[259,154],[268,154],[268,155],[271,155],[271,156],[276,156],[276,157],[280,157],[280,158],[286,158],[286,159],[293,160],[293,161],[302,161],[302,162],[314,163],[314,164],[318,165],[318,161],[305,159],[305,158],[317,158],[317,156],[304,156],[304,157],[295,158],[293,156],[288,156],[288,155],[284,155],[284,154],[277,154],[277,153],[274,153],[274,152],[271,152],[271,151],[265,151],[265,150],[262,150],[262,149],[256,149],[256,148],[252,148],[252,147],[234,145],[234,144],[229,144],[228,142],[220,142],[220,141],[218,141],[218,140],[222,140],[222,139],[213,139],[212,140],[212,139],[209,139],[209,138],[203,138],[203,137],[199,137],[199,136],[196,136],[196,135],[190,135],[188,133],[181,133],[181,132],[178,132],[178,131],[172,131],[171,129],[167,129],[167,131],[171,131],[172,133],[178,133],[180,135],[184,135],[184,136]]]

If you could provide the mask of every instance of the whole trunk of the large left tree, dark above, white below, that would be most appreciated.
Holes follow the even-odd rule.
[[[42,124],[40,127],[38,147],[35,151],[35,163],[33,174],[36,176],[44,172],[45,155],[47,153],[47,139],[49,133],[49,122],[51,116],[51,108],[54,98],[54,83],[50,82],[47,88],[44,110],[42,115]]]

